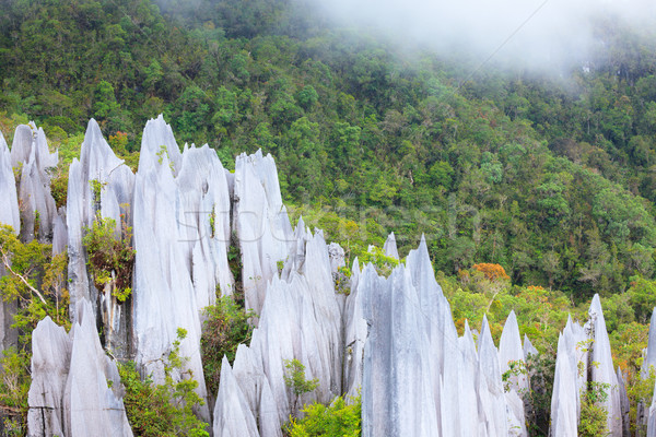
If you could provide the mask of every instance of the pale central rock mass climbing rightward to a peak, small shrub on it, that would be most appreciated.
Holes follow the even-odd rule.
[[[250,345],[239,345],[232,370],[223,363],[227,369],[222,367],[214,405],[215,436],[280,437],[280,425],[303,403],[328,403],[341,392],[341,312],[328,246],[303,221],[294,235],[282,277],[276,273],[267,283]],[[319,381],[317,390],[301,399],[284,382],[285,362],[291,359],[305,366],[307,379]],[[235,414],[244,421],[235,424]],[[255,432],[250,417],[257,422]]]

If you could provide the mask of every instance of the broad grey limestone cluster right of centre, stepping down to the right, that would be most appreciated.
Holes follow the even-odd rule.
[[[364,436],[526,435],[524,417],[515,415],[523,415],[522,401],[517,397],[517,405],[511,404],[504,393],[500,355],[487,321],[478,352],[468,326],[458,338],[423,238],[406,265],[387,279],[365,265],[354,292],[347,308],[361,310],[365,323],[347,322],[345,338],[354,345],[364,341]],[[368,334],[361,340],[366,331],[359,330],[365,328]],[[518,358],[523,356],[519,345]],[[351,361],[358,363],[356,353]],[[355,380],[358,366],[347,368]]]

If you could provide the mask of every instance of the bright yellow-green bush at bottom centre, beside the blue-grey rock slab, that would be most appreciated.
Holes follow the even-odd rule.
[[[330,405],[307,404],[303,418],[292,418],[283,427],[290,437],[358,437],[362,434],[362,399],[359,395],[349,404],[336,398]]]

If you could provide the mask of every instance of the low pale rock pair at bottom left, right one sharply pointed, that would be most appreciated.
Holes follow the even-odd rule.
[[[118,369],[101,346],[91,304],[78,303],[77,312],[68,335],[48,317],[33,332],[27,435],[132,436]]]

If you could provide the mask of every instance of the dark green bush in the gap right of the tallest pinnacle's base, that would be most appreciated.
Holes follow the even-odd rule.
[[[239,344],[250,341],[253,327],[248,318],[253,316],[241,308],[231,296],[216,299],[216,304],[203,308],[206,320],[202,324],[200,351],[208,392],[215,394],[221,380],[223,356],[232,365]]]

